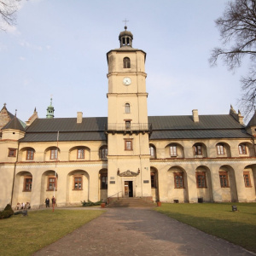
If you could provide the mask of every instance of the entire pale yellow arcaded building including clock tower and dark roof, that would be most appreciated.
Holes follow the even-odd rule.
[[[107,54],[108,119],[83,119],[78,113],[72,121],[41,120],[35,112],[24,131],[3,126],[0,208],[8,203],[15,207],[18,202],[44,207],[45,198],[53,195],[58,207],[119,197],[255,202],[255,127],[243,125],[233,108],[230,115],[219,119],[230,122],[228,132],[227,125],[216,125],[216,119],[198,115],[197,110],[178,119],[190,124],[189,128],[170,128],[175,117],[170,118],[171,123],[167,118],[148,117],[146,54],[131,48],[133,36],[126,29],[119,39],[120,48]],[[209,130],[204,128],[207,126],[199,129],[207,119],[211,120]],[[148,120],[154,120],[153,124]],[[49,127],[57,122],[57,128]],[[73,122],[73,131],[66,131],[63,122]],[[100,127],[96,122],[105,122],[106,126],[96,131],[86,122],[95,127]],[[58,127],[62,129],[60,139]]]

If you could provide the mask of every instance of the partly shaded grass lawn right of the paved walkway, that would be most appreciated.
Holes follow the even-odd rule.
[[[256,203],[162,204],[156,211],[256,253]]]

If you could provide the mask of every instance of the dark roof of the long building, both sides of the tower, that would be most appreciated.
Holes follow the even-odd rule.
[[[20,142],[53,142],[58,131],[59,141],[106,141],[107,123],[107,117],[83,118],[81,124],[77,124],[76,118],[36,119],[26,128],[26,136]],[[190,115],[149,116],[148,123],[153,127],[150,140],[251,137],[229,114],[200,115],[198,123]]]

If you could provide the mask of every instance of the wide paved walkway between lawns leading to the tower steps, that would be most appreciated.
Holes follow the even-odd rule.
[[[108,208],[59,241],[45,255],[256,255],[146,208]]]

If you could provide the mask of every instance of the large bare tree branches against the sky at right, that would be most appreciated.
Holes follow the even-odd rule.
[[[247,117],[256,103],[256,0],[234,0],[228,2],[224,14],[215,20],[223,46],[212,49],[210,63],[217,64],[219,58],[229,70],[241,66],[241,60],[248,57],[250,67],[241,78],[242,95],[239,102]]]

